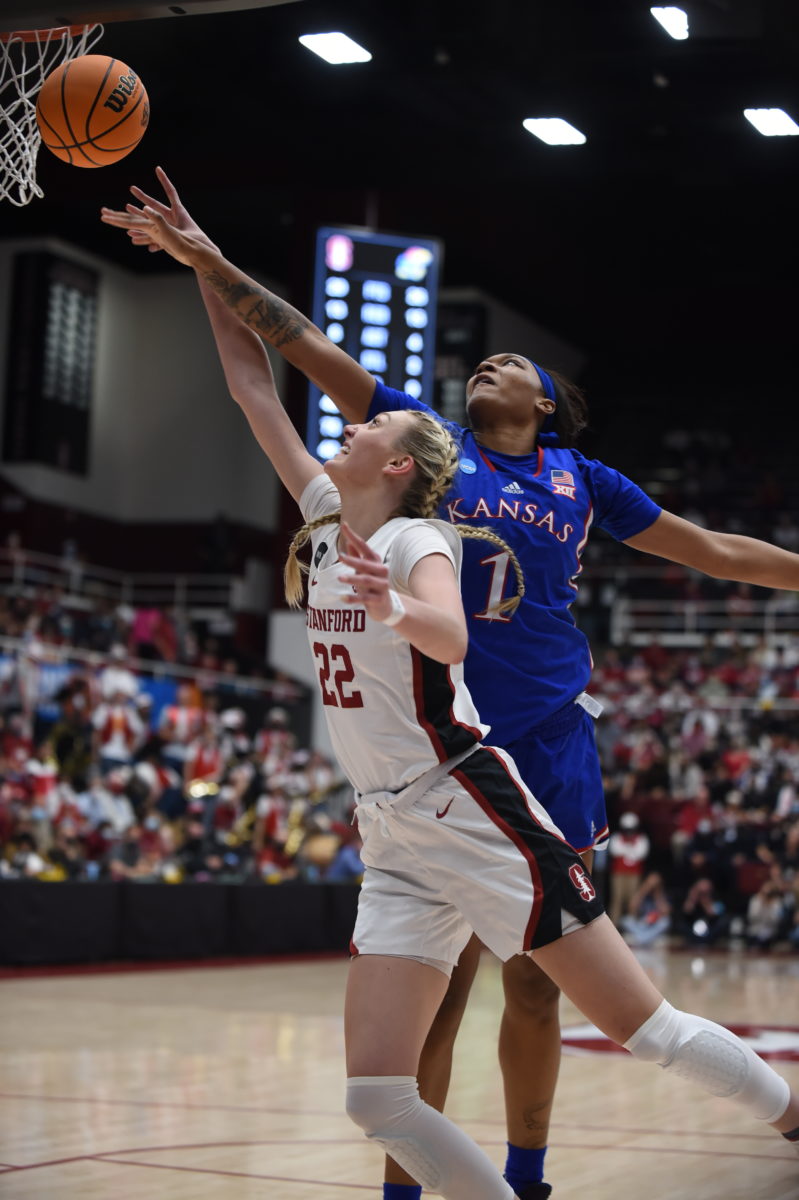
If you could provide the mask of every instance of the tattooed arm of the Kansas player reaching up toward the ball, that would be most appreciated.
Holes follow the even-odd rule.
[[[144,202],[142,209],[128,205],[121,212],[103,208],[101,220],[125,229],[137,244],[166,250],[178,262],[192,266],[239,320],[331,396],[347,420],[362,421],[374,391],[374,377],[298,308],[228,263],[191,220],[163,172],[158,179],[169,205],[152,203],[151,197],[134,188],[133,194]]]

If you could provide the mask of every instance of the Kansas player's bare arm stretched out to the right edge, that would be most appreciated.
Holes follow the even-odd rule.
[[[626,545],[692,566],[716,580],[799,589],[799,554],[757,538],[702,529],[673,512],[661,512],[648,529],[627,538]]]

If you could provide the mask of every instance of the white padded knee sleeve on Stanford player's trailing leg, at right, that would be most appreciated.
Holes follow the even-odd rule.
[[[761,1121],[777,1121],[788,1106],[787,1082],[746,1043],[714,1021],[672,1008],[667,1000],[624,1045],[636,1058],[734,1100]]]

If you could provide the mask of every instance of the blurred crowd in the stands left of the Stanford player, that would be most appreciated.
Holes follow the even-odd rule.
[[[301,685],[212,638],[144,646],[138,612],[64,611],[0,598],[0,880],[360,880],[340,773],[295,731]]]

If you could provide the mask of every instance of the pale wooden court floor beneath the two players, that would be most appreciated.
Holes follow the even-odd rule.
[[[681,1007],[799,1086],[799,956],[642,961]],[[342,1111],[342,959],[0,982],[0,1195],[379,1200],[382,1157]],[[485,956],[449,1112],[500,1164],[500,983]],[[563,1004],[553,1200],[797,1200],[768,1127],[637,1063]]]

